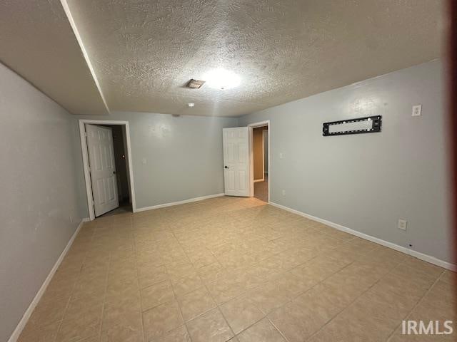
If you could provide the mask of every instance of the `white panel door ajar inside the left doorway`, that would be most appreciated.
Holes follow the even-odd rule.
[[[98,217],[119,207],[111,128],[86,124],[87,150],[94,196],[94,211]]]

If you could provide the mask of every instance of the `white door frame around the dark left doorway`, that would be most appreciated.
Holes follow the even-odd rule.
[[[87,152],[87,140],[86,140],[86,128],[85,128],[86,123],[89,123],[92,125],[124,125],[126,127],[127,159],[128,159],[127,161],[129,163],[131,207],[132,207],[132,211],[136,212],[134,170],[133,170],[132,162],[131,162],[129,121],[80,119],[79,120],[79,136],[81,138],[81,152],[83,155],[84,180],[86,181],[87,207],[89,208],[89,219],[91,221],[93,219],[95,219],[95,212],[94,212],[94,205],[92,204],[93,197],[92,197],[92,185],[91,185],[91,172],[89,172],[89,155]]]

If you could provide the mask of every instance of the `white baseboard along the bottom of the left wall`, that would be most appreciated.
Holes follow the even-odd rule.
[[[36,304],[38,304],[38,302],[41,299],[41,296],[43,296],[43,294],[44,294],[44,291],[46,291],[46,287],[48,287],[49,282],[51,281],[52,277],[54,276],[54,274],[56,273],[57,269],[59,268],[62,260],[64,260],[64,257],[66,256],[66,253],[69,252],[71,244],[73,244],[74,239],[76,238],[76,235],[78,235],[79,230],[83,226],[83,223],[84,222],[88,222],[88,221],[89,221],[89,217],[86,217],[84,219],[81,219],[81,222],[79,222],[79,225],[76,228],[76,230],[74,231],[73,235],[71,236],[70,241],[68,242],[68,244],[66,244],[65,249],[61,252],[59,259],[57,259],[56,263],[52,267],[52,269],[49,272],[48,276],[46,276],[46,279],[44,279],[43,285],[41,285],[40,289],[36,293],[36,296],[35,296],[34,300],[31,301],[31,304],[29,305],[29,307],[27,308],[26,312],[24,313],[24,316],[22,316],[21,321],[19,321],[18,325],[14,329],[14,331],[11,334],[8,342],[16,342],[17,339],[19,338],[19,335],[21,335],[21,332],[24,330],[24,327],[26,326],[27,321],[29,321],[29,318],[30,318],[32,312],[34,312]]]

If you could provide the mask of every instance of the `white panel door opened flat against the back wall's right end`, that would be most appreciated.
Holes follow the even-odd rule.
[[[223,129],[225,195],[250,196],[250,129],[248,127]]]

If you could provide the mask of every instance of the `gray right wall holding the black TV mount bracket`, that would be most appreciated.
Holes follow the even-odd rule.
[[[432,61],[241,117],[271,120],[271,201],[451,261],[442,73]],[[322,136],[379,114],[381,133]]]

